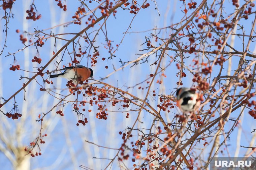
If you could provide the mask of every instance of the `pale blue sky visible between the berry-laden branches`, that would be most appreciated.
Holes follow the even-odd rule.
[[[31,1],[30,1],[31,2]],[[10,97],[15,91],[17,91],[22,84],[26,81],[26,79],[19,80],[20,75],[22,76],[28,76],[31,77],[34,75],[34,73],[28,73],[21,70],[18,71],[10,71],[9,67],[10,64],[13,64],[13,56],[7,56],[5,57],[8,52],[13,53],[17,51],[18,49],[22,49],[24,45],[19,40],[19,35],[23,32],[29,32],[34,33],[34,28],[36,30],[44,30],[50,27],[53,27],[55,25],[68,22],[72,20],[72,16],[74,14],[74,11],[76,11],[79,1],[66,1],[67,5],[67,11],[63,11],[62,9],[58,8],[57,2],[55,1],[35,1],[36,8],[38,10],[38,13],[42,15],[41,19],[37,21],[30,21],[26,20],[25,17],[27,14],[25,13],[25,9],[29,9],[30,5],[29,1],[23,0],[23,1],[16,1],[12,8],[12,13],[14,14],[14,18],[10,18],[10,21],[8,23],[8,34],[7,34],[7,48],[4,50],[4,53],[1,55],[0,63],[2,69],[0,72],[2,72],[2,76],[0,77],[0,84],[2,84],[2,88],[0,90],[0,95],[4,97],[5,99]],[[210,1],[211,2],[211,1]],[[209,4],[210,4],[209,2]],[[169,26],[172,23],[177,23],[181,20],[181,18],[184,16],[184,13],[182,12],[183,6],[182,3],[178,0],[160,0],[157,1],[157,7],[159,9],[160,15],[158,15],[158,11],[155,10],[154,1],[149,1],[150,7],[141,10],[136,17],[134,18],[131,28],[128,32],[140,32],[145,30],[150,30],[155,27],[161,28],[165,26]],[[198,2],[199,3],[199,2]],[[97,5],[96,2],[93,2],[92,4],[88,3],[88,6],[90,9],[93,9]],[[223,16],[224,18],[228,16],[232,11],[232,8],[228,8],[229,3],[227,3],[227,6],[224,6],[223,8]],[[0,13],[3,15],[3,10],[0,11]],[[96,12],[97,16],[100,16],[99,12]],[[130,25],[130,22],[132,20],[132,17],[134,14],[130,14],[128,10],[118,9],[118,12],[116,14],[116,18],[111,15],[107,20],[107,36],[108,39],[114,41],[113,45],[119,44],[122,40],[123,33],[127,30],[128,26]],[[81,25],[76,24],[70,24],[67,27],[59,26],[51,30],[44,31],[46,34],[52,33],[54,34],[60,34],[60,33],[77,33],[84,29],[86,26],[85,17],[82,20]],[[1,30],[4,29],[4,20],[1,20]],[[244,30],[245,33],[248,35],[251,28],[252,19],[249,20],[242,20],[241,24],[244,24]],[[100,22],[102,24],[102,21]],[[98,26],[98,25],[97,25]],[[95,26],[96,27],[96,26]],[[179,27],[179,26],[178,26]],[[15,30],[19,29],[21,32],[17,34]],[[94,28],[91,28],[88,33],[92,32]],[[141,45],[145,42],[145,37],[150,36],[150,33],[158,34],[160,37],[169,38],[169,35],[171,33],[175,32],[172,29],[166,29],[160,31],[148,31],[144,33],[132,33],[127,34],[121,44],[121,46],[118,48],[118,51],[115,53],[116,58],[113,60],[105,60],[102,61],[101,58],[107,58],[109,56],[106,49],[104,49],[105,44],[105,37],[100,32],[98,37],[96,38],[96,45],[100,46],[98,48],[100,56],[98,59],[98,63],[96,66],[92,67],[94,70],[94,79],[98,80],[102,77],[105,77],[112,71],[114,71],[113,66],[118,69],[120,68],[121,64],[119,60],[122,61],[132,61],[136,59],[139,55],[137,54],[143,54],[145,51],[140,51],[142,49],[146,49],[146,44]],[[242,34],[241,30],[238,30],[237,33]],[[186,34],[186,33],[185,33]],[[31,38],[31,35],[24,34],[28,39]],[[91,38],[93,38],[94,33],[91,34]],[[1,47],[4,43],[4,36],[5,34],[2,33],[0,35],[1,39]],[[72,38],[73,35],[63,36],[65,39]],[[32,37],[32,40],[34,41],[34,37]],[[247,38],[245,38],[245,42],[247,42]],[[229,42],[229,41],[228,41]],[[239,51],[243,51],[241,39],[237,38],[235,39],[234,48],[236,48]],[[44,65],[52,56],[53,56],[53,46],[54,46],[54,39],[48,39],[45,42],[45,45],[43,47],[39,47],[39,54],[42,58],[42,64],[40,66]],[[158,46],[158,43],[161,43],[161,41],[153,42],[155,46]],[[28,45],[28,43],[26,43]],[[56,47],[57,50],[64,45],[64,41],[57,40],[56,41]],[[81,45],[85,46],[86,43],[81,41]],[[254,51],[255,43],[252,42],[250,46],[251,53]],[[213,47],[214,48],[214,47]],[[72,45],[68,46],[68,50],[72,51]],[[227,49],[228,50],[228,49]],[[56,50],[55,50],[56,52]],[[61,56],[63,53],[61,53],[54,62],[52,62],[47,69],[54,70],[56,67],[54,66],[55,61],[60,61]],[[24,51],[18,52],[15,54],[15,58],[17,59],[18,63],[21,65],[21,69],[29,69],[30,71],[35,71],[38,67],[38,64],[32,63],[31,59],[33,56],[36,55],[36,50],[34,47],[26,48]],[[174,56],[175,52],[169,52],[169,55]],[[185,54],[189,56],[189,54]],[[192,58],[194,55],[191,55],[190,58],[185,60],[185,64],[189,65],[192,61]],[[238,56],[232,57],[232,68],[231,70],[234,70],[237,66],[237,60]],[[123,70],[120,70],[116,72],[115,74],[111,75],[108,79],[104,80],[104,82],[109,83],[112,86],[123,88],[126,90],[126,87],[134,86],[136,83],[143,81],[144,79],[149,77],[150,73],[153,73],[156,69],[156,66],[153,65],[152,67],[149,66],[150,64],[154,63],[156,58],[155,55],[152,55],[149,57],[149,62],[138,64],[133,67],[126,67]],[[29,61],[29,62],[26,62]],[[67,53],[65,53],[62,64],[66,65],[68,62],[70,62],[70,57]],[[106,63],[107,62],[107,63]],[[165,65],[170,62],[170,58],[165,58]],[[83,65],[89,65],[87,63],[86,58],[82,60]],[[105,65],[108,65],[108,69],[105,69]],[[216,68],[219,68],[216,66]],[[227,70],[227,65],[224,65],[225,70]],[[216,69],[217,70],[217,69]],[[177,88],[176,82],[179,80],[179,78],[175,75],[178,72],[175,63],[171,64],[170,67],[167,67],[165,70],[165,74],[167,75],[167,78],[164,78],[164,85],[159,85],[158,83],[153,83],[152,91],[156,90],[157,93],[167,94],[174,93],[175,88]],[[232,72],[233,73],[233,72]],[[231,74],[232,74],[231,73]],[[193,85],[192,78],[193,76],[187,71],[186,74],[187,77],[183,78],[183,84],[187,87],[191,87]],[[213,71],[212,77],[215,77],[218,74],[218,72]],[[224,73],[225,74],[225,73]],[[46,78],[46,76],[44,76]],[[160,80],[160,76],[157,75],[156,80]],[[42,78],[37,77],[36,80],[42,84]],[[66,80],[64,79],[53,79],[54,86],[48,86],[46,85],[45,88],[53,88],[57,87],[58,93],[61,93],[62,95],[68,94],[67,89],[58,90],[60,88],[65,88]],[[34,83],[34,85],[33,85]],[[36,136],[40,129],[40,123],[36,123],[34,120],[37,118],[38,114],[45,113],[58,102],[54,97],[45,94],[44,92],[39,91],[38,84],[33,81],[32,84],[30,84],[26,88],[26,101],[23,100],[24,92],[21,92],[17,95],[16,101],[19,104],[19,110],[24,115],[28,115],[26,121],[23,124],[24,131],[22,135],[22,144],[17,144],[20,146],[26,146],[28,145]],[[141,87],[146,88],[147,84],[142,83]],[[101,87],[101,85],[98,85],[98,87]],[[129,93],[132,93],[139,98],[144,98],[145,94],[147,92],[146,89],[139,90],[139,86],[135,88],[128,89]],[[161,92],[159,92],[159,89],[161,89]],[[151,94],[152,95],[152,94]],[[57,95],[58,96],[58,95]],[[58,96],[60,97],[60,96]],[[68,98],[69,100],[74,100],[73,97]],[[158,104],[157,99],[150,97],[148,102],[156,108],[156,105]],[[87,98],[88,100],[88,98]],[[5,105],[3,108],[4,111],[9,111],[12,107],[13,100]],[[46,144],[41,145],[42,149],[42,156],[38,156],[35,158],[32,158],[31,161],[31,169],[79,169],[79,165],[84,165],[86,167],[92,168],[92,169],[102,169],[106,167],[109,160],[100,160],[100,159],[93,159],[93,157],[96,158],[113,158],[116,155],[116,150],[108,150],[103,148],[98,148],[95,145],[85,143],[85,140],[91,141],[95,144],[102,145],[105,147],[110,148],[119,148],[122,139],[121,136],[118,134],[119,131],[123,131],[127,128],[127,126],[131,127],[133,124],[133,121],[137,117],[137,112],[130,113],[130,117],[127,119],[125,118],[126,112],[122,107],[118,109],[118,107],[112,108],[111,104],[108,104],[109,110],[117,111],[117,112],[109,112],[108,119],[106,121],[104,120],[98,120],[95,118],[96,115],[96,107],[88,107],[88,105],[85,107],[86,110],[91,109],[91,113],[86,113],[86,116],[89,120],[88,124],[86,126],[76,126],[77,122],[77,116],[76,113],[72,112],[72,106],[71,104],[66,104],[63,112],[64,117],[60,117],[59,115],[56,115],[56,109],[53,110],[50,114],[48,114],[45,117],[45,133],[48,134],[47,137],[45,137]],[[136,109],[137,107],[132,106],[129,109]],[[239,109],[238,109],[239,110]],[[23,111],[25,113],[23,113]],[[178,111],[172,110],[173,112],[177,113]],[[255,120],[252,119],[250,115],[247,114],[248,110],[245,110],[245,116],[244,116],[244,123],[243,123],[243,133],[241,137],[241,145],[248,146],[249,141],[251,140],[252,129],[255,129]],[[162,112],[162,114],[165,114]],[[230,118],[236,117],[238,115],[238,112],[235,112],[231,115]],[[165,114],[166,120],[172,120],[174,114]],[[1,115],[1,120],[6,119],[4,115]],[[137,128],[149,128],[152,124],[152,120],[154,117],[152,115],[149,115],[147,112],[143,112],[140,116],[140,119],[143,123],[136,125]],[[8,120],[8,124],[11,127],[10,133],[14,133],[15,127],[19,127],[19,120]],[[159,123],[158,123],[159,124]],[[228,124],[227,126],[230,127],[232,123]],[[136,127],[135,126],[135,127]],[[6,127],[8,129],[8,127]],[[237,129],[234,130],[233,134],[230,136],[230,140],[227,141],[227,145],[231,145],[229,147],[229,152],[231,155],[233,154],[234,150],[236,149],[236,145],[234,141],[236,141],[236,134]],[[9,136],[9,135],[6,135]],[[13,140],[16,143],[15,135],[11,134],[12,138],[10,138],[11,142]],[[132,141],[136,140],[138,138],[136,132],[134,132],[134,138]],[[223,140],[223,137],[221,138]],[[221,140],[221,141],[222,141]],[[16,144],[15,144],[16,145]],[[202,145],[202,144],[199,144]],[[211,148],[211,147],[209,147]],[[225,147],[221,148],[224,149]],[[241,149],[241,155],[245,153],[245,149]],[[208,151],[209,152],[209,151]],[[207,155],[207,149],[205,151],[205,155]],[[129,153],[130,156],[132,156],[131,153]],[[224,152],[224,154],[226,154]],[[72,157],[75,157],[75,160],[72,160]],[[12,167],[10,161],[4,156],[3,153],[0,153],[0,165],[2,165],[3,169],[10,169]],[[125,162],[128,163],[128,162]],[[118,161],[114,162],[113,169],[118,167]],[[132,163],[129,162],[128,168],[132,169]]]

